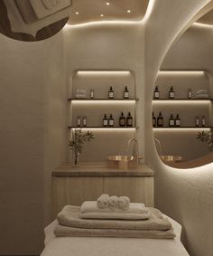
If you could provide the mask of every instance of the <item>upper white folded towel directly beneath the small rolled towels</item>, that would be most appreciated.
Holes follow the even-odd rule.
[[[145,207],[143,203],[130,203],[129,209],[127,210],[121,210],[119,208],[116,208],[115,210],[112,210],[110,208],[100,209],[97,207],[97,201],[86,201],[83,204],[81,204],[80,207],[80,213],[136,213],[136,214],[144,214],[148,213],[148,209]]]

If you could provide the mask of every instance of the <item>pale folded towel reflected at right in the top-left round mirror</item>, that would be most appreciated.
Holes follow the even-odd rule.
[[[51,3],[49,3],[49,5],[44,5],[42,0],[29,1],[38,19],[42,19],[51,14],[55,14],[70,5],[70,0],[58,0],[56,5],[51,5]]]

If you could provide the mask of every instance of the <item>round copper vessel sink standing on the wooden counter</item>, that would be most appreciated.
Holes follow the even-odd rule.
[[[141,156],[107,156],[107,166],[116,169],[129,169],[138,166]]]

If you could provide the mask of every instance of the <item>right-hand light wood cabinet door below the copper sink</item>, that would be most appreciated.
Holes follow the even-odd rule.
[[[153,206],[153,177],[105,177],[104,192],[127,195],[131,202]]]

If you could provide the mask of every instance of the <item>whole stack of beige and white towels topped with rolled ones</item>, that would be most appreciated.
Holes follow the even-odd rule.
[[[159,210],[130,203],[126,196],[102,194],[97,201],[84,202],[81,207],[66,205],[57,220],[57,237],[175,237],[171,223]]]

